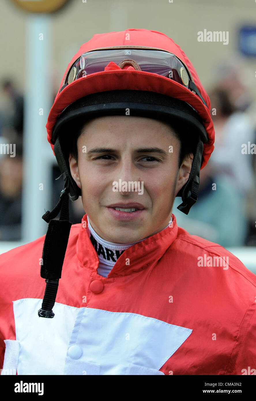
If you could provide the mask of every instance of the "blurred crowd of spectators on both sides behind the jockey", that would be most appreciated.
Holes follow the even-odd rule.
[[[15,157],[0,154],[0,240],[17,241],[21,239],[24,99],[8,79],[0,90],[0,143],[16,144]],[[201,170],[197,203],[184,215],[177,209],[181,198],[176,198],[173,214],[179,227],[191,235],[226,248],[256,246],[256,101],[233,61],[218,67],[216,84],[208,95],[216,132],[214,152]],[[52,166],[51,209],[63,188],[59,176],[58,166]],[[81,223],[85,214],[81,197],[69,201],[69,206],[70,221]]]

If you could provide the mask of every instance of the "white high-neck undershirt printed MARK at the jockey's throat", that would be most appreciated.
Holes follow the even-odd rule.
[[[130,244],[118,244],[109,241],[105,241],[102,239],[93,229],[90,224],[88,215],[87,215],[87,233],[91,242],[95,248],[95,251],[99,257],[99,267],[97,269],[97,273],[102,275],[103,277],[107,277],[109,272],[112,270],[113,266],[115,265],[117,259],[121,256],[121,254],[125,251],[125,249],[131,247],[132,245],[137,244],[138,242],[143,241],[145,238],[141,239],[140,241],[133,242]],[[171,218],[172,221],[172,218]],[[164,228],[164,230],[169,226],[169,224]],[[150,237],[150,235],[149,235]],[[146,237],[148,238],[148,237]]]

